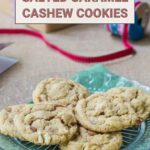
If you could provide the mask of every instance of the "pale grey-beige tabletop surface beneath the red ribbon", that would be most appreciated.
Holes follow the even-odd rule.
[[[24,26],[15,25],[12,18],[0,14],[2,27]],[[143,40],[133,43],[137,51],[134,57],[107,66],[117,74],[150,85],[150,24],[146,33]],[[107,54],[123,48],[120,38],[111,36],[103,25],[77,25],[46,36],[52,43],[68,51],[88,56]],[[28,102],[32,90],[41,79],[49,76],[69,78],[93,65],[70,61],[33,37],[3,35],[0,41],[15,42],[0,54],[19,60],[17,65],[0,75],[0,107]]]

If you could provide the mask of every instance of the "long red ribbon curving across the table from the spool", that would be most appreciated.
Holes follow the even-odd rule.
[[[124,34],[123,34],[123,45],[125,47],[124,50],[107,54],[103,56],[96,56],[96,57],[88,57],[88,56],[80,56],[73,53],[70,53],[52,43],[50,43],[40,32],[33,31],[29,29],[0,29],[0,34],[9,34],[9,35],[17,35],[17,34],[24,34],[29,36],[34,36],[40,40],[42,40],[49,48],[59,52],[60,54],[66,56],[67,58],[83,63],[96,63],[96,62],[105,62],[111,61],[114,59],[118,59],[121,57],[125,57],[131,54],[134,54],[133,47],[128,43],[128,25],[125,25]]]

